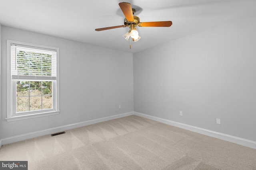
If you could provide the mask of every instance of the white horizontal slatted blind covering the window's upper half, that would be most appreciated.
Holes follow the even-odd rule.
[[[56,80],[56,50],[11,44],[12,80]]]

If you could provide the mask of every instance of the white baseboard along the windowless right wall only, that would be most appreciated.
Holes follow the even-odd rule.
[[[180,127],[182,129],[186,129],[186,130],[189,130],[189,131],[193,131],[193,132],[200,133],[200,134],[203,134],[203,135],[207,135],[207,136],[210,136],[210,137],[214,137],[214,138],[217,138],[217,139],[222,139],[224,141],[236,143],[238,145],[242,145],[242,146],[249,147],[249,148],[252,148],[252,149],[256,149],[256,141],[250,141],[250,140],[247,140],[247,139],[234,137],[234,136],[231,136],[231,135],[226,135],[226,134],[223,134],[223,133],[218,133],[218,132],[210,131],[210,130],[207,130],[207,129],[202,129],[200,127],[190,126],[190,125],[186,125],[184,123],[179,123],[179,122],[175,122],[175,121],[170,121],[168,119],[162,119],[162,118],[159,118],[159,117],[146,115],[146,114],[143,114],[143,113],[134,112],[134,115],[137,115],[137,116],[140,116],[140,117],[145,117],[147,119],[151,119],[151,120],[158,121],[158,122],[161,122],[161,123],[165,123],[167,125]]]

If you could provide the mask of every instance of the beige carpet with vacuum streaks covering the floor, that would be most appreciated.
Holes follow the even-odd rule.
[[[4,145],[29,170],[256,170],[256,150],[135,115]]]

